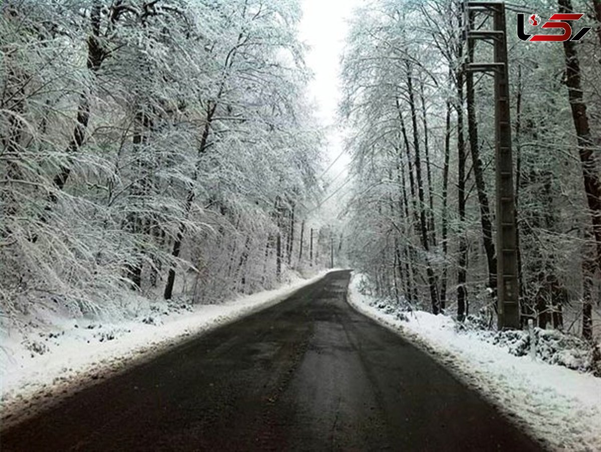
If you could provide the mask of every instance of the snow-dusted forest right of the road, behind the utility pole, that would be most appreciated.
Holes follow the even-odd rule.
[[[468,47],[464,6],[379,0],[355,15],[341,106],[352,130],[349,254],[393,304],[492,326],[495,97],[490,75],[466,70],[492,61],[492,46]],[[584,13],[573,32],[592,31],[519,40],[517,14],[533,12]],[[590,340],[601,308],[601,3],[507,4],[505,16],[521,317]],[[475,20],[492,28],[490,14]]]

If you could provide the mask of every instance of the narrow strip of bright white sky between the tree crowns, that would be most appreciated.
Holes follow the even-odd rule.
[[[328,133],[328,156],[338,157],[343,149],[341,132],[334,129],[336,111],[340,101],[340,56],[347,32],[346,20],[361,0],[301,0],[303,18],[299,27],[301,40],[309,44],[307,65],[315,79],[310,85],[310,95],[318,106],[318,115]],[[329,169],[327,177],[333,178],[344,171],[349,157],[346,153]],[[326,177],[326,176],[325,176]],[[337,177],[332,188],[344,182],[344,174]]]

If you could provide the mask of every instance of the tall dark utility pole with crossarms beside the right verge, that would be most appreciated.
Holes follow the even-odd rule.
[[[496,163],[496,255],[498,328],[520,328],[519,286],[517,281],[516,207],[513,190],[513,156],[511,155],[511,121],[505,3],[465,1],[468,50],[475,41],[492,43],[494,63],[468,61],[470,72],[492,72],[495,78],[495,163]],[[477,13],[492,16],[493,29],[474,28]],[[468,55],[473,52],[468,51]]]

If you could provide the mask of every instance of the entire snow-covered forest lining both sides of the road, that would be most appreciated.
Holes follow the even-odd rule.
[[[601,3],[528,8],[506,12],[521,313],[590,339]],[[574,26],[592,31],[525,42],[516,17],[532,11],[581,11]],[[348,265],[395,305],[495,324],[493,84],[465,66],[491,50],[466,46],[464,2],[355,11],[341,57],[342,184],[323,177],[301,16],[295,0],[2,4],[3,317],[52,303],[118,311],[132,292],[218,302]],[[332,197],[340,212],[320,209]]]

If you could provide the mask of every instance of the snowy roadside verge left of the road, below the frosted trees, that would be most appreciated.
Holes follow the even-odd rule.
[[[331,271],[331,270],[328,270]],[[210,331],[284,300],[322,278],[299,276],[276,290],[224,304],[189,306],[132,298],[133,320],[99,322],[43,311],[35,328],[7,328],[0,335],[3,428],[132,362],[150,359],[186,337]],[[23,331],[27,331],[23,334]]]

